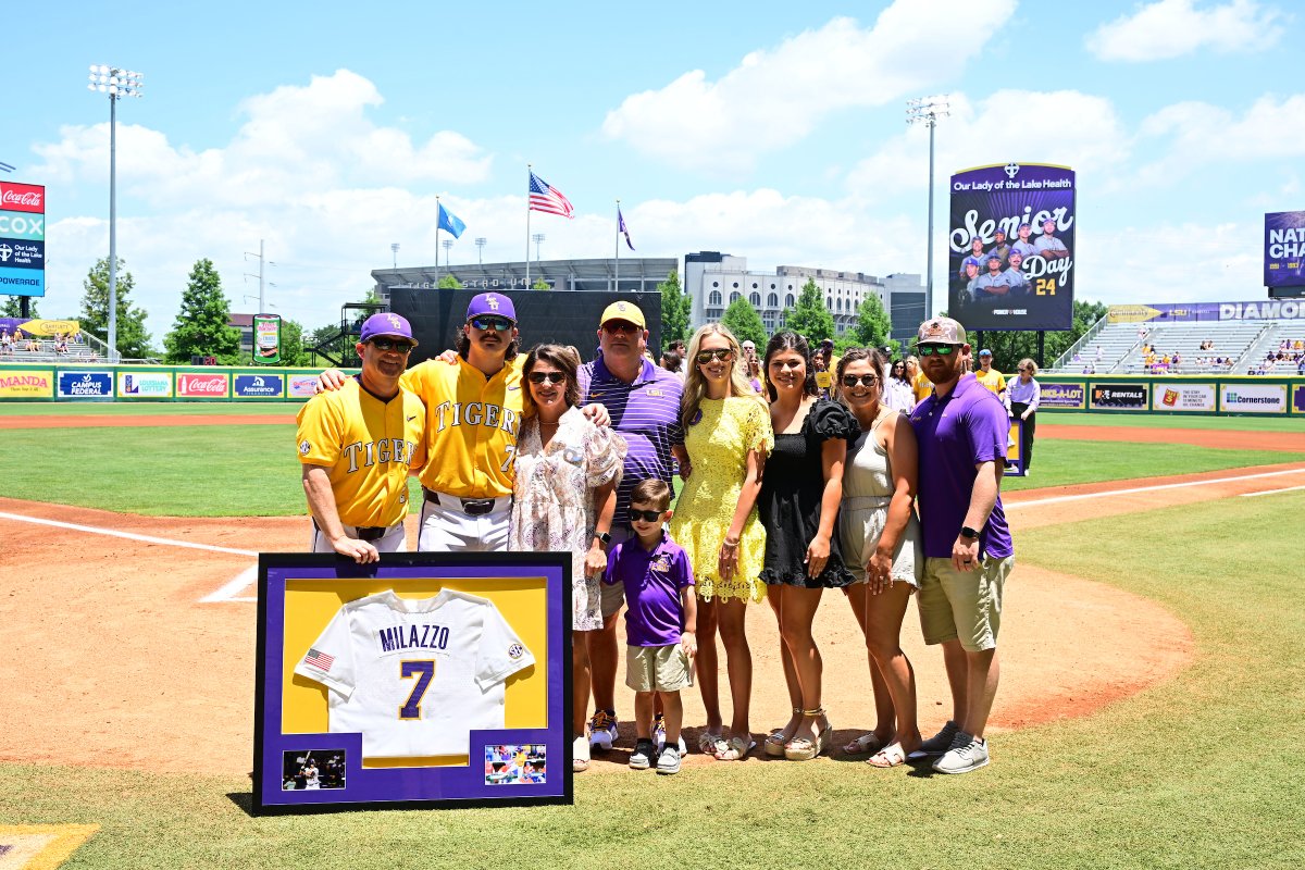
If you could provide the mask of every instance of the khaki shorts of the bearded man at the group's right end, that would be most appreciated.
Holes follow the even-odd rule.
[[[984,557],[977,571],[958,571],[950,558],[924,560],[920,630],[925,643],[959,640],[967,652],[997,648],[1001,597],[1015,557]]]

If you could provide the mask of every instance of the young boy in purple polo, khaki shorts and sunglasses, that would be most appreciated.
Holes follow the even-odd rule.
[[[679,544],[662,528],[669,518],[671,488],[649,477],[630,493],[634,537],[621,541],[607,560],[603,582],[625,587],[625,685],[634,690],[634,751],[630,767],[658,773],[680,772],[680,690],[693,685],[698,652],[698,605],[693,567]],[[666,742],[652,740],[652,706],[662,699]]]

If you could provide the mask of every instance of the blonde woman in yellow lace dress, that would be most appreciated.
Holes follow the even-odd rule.
[[[744,635],[749,601],[766,597],[760,574],[766,531],[757,493],[766,454],[774,445],[770,412],[736,365],[739,342],[709,323],[689,342],[680,404],[690,471],[671,518],[671,537],[693,565],[698,593],[698,686],[707,728],[698,741],[719,760],[739,760],[756,746],[748,723],[752,651]],[[722,732],[716,630],[726,648],[733,716]]]

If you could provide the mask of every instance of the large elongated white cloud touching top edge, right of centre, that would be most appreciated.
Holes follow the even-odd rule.
[[[923,14],[920,4],[897,0],[873,27],[834,18],[746,55],[719,81],[696,69],[632,94],[608,112],[603,132],[677,166],[739,171],[838,110],[883,106],[954,78],[1014,8],[1014,0],[940,0]]]

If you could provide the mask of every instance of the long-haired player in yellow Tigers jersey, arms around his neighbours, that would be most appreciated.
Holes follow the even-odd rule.
[[[517,337],[512,300],[480,293],[467,305],[453,363],[436,357],[403,373],[402,386],[425,403],[420,550],[508,549],[521,429]],[[322,372],[326,390],[343,381],[338,370]]]

